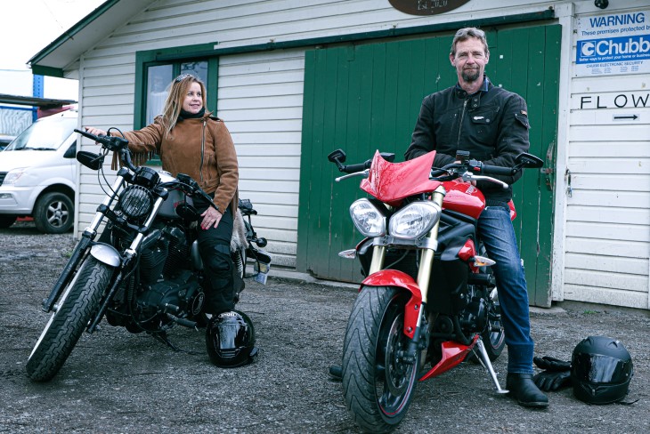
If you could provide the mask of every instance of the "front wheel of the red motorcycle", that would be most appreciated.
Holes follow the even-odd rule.
[[[354,421],[367,432],[393,430],[406,415],[420,352],[407,362],[402,290],[365,287],[354,303],[343,349],[343,390]]]

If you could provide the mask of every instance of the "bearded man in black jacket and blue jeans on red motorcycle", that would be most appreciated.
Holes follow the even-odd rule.
[[[457,162],[457,151],[463,150],[486,165],[512,167],[516,156],[530,146],[525,100],[494,86],[483,74],[490,60],[483,30],[459,29],[449,59],[456,68],[458,84],[422,101],[406,159],[435,150],[434,167],[443,167]],[[521,171],[494,177],[511,185],[521,177]],[[476,187],[486,202],[478,219],[479,234],[488,256],[496,261],[492,270],[508,344],[506,388],[522,406],[547,407],[548,398],[532,381],[528,292],[508,206],[512,188],[503,189],[489,181],[478,181]]]

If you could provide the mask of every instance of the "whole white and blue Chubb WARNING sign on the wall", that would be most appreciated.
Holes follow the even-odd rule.
[[[578,19],[575,76],[650,72],[650,11]]]

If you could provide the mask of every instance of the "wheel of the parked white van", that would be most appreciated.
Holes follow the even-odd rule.
[[[46,234],[68,232],[75,222],[72,199],[63,193],[53,191],[37,200],[34,207],[34,223],[39,231]]]

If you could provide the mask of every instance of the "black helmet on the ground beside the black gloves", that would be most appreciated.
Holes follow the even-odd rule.
[[[634,374],[632,358],[620,341],[589,336],[573,350],[573,395],[589,404],[611,404],[628,394]]]

